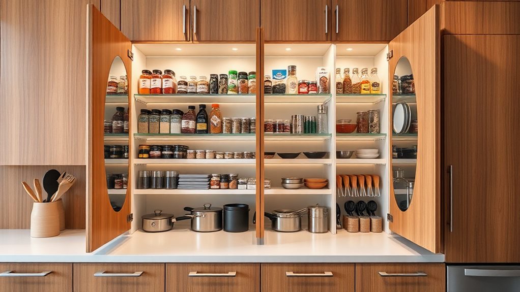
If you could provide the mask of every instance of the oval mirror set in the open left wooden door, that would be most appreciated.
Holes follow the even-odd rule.
[[[105,172],[110,204],[119,212],[128,185],[128,80],[120,57],[110,67],[105,98]],[[126,138],[125,138],[126,137]]]

